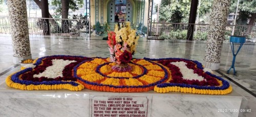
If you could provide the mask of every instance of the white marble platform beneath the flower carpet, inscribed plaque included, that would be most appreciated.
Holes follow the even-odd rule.
[[[185,93],[21,91],[0,84],[0,116],[239,116],[246,99]],[[112,101],[112,102],[111,102]],[[237,112],[236,112],[237,111]]]

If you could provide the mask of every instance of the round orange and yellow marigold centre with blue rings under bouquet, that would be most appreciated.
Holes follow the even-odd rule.
[[[97,67],[92,69],[83,66],[92,66],[96,62]],[[166,67],[155,63],[148,62],[147,65],[140,65],[141,59],[133,60],[129,63],[131,71],[117,72],[111,69],[115,63],[108,62],[105,58],[95,58],[94,60],[84,61],[74,68],[74,76],[87,89],[106,92],[145,92],[154,89],[158,83],[167,81],[170,78],[170,72]],[[147,66],[155,66],[150,72]],[[156,67],[157,66],[157,67]],[[160,68],[160,69],[159,69]],[[87,71],[87,72],[82,72]]]

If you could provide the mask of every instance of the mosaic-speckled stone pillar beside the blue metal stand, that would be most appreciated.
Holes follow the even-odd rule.
[[[210,15],[210,25],[203,65],[211,70],[220,68],[221,48],[224,40],[225,25],[230,0],[214,0]]]

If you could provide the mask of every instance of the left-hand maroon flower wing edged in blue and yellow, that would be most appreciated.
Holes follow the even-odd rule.
[[[9,75],[6,78],[6,83],[10,87],[20,90],[57,90],[67,89],[71,91],[80,91],[84,86],[77,82],[73,77],[72,69],[78,63],[91,58],[83,56],[68,56],[68,55],[53,55],[45,56],[36,59],[33,65],[23,67],[21,71]],[[52,60],[70,60],[73,63],[64,66],[62,76],[49,78],[45,76],[35,77],[36,74],[43,73],[46,69],[52,66]],[[76,61],[76,62],[75,62]],[[60,63],[62,64],[62,63]],[[34,67],[35,66],[35,67]],[[55,68],[59,69],[59,68]],[[52,68],[54,70],[54,68]],[[48,74],[51,75],[51,72]]]

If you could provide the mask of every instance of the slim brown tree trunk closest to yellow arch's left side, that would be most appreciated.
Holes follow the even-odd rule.
[[[68,19],[69,15],[69,0],[61,0],[61,18]],[[69,21],[62,20],[61,21],[61,28],[63,33],[69,32]]]

